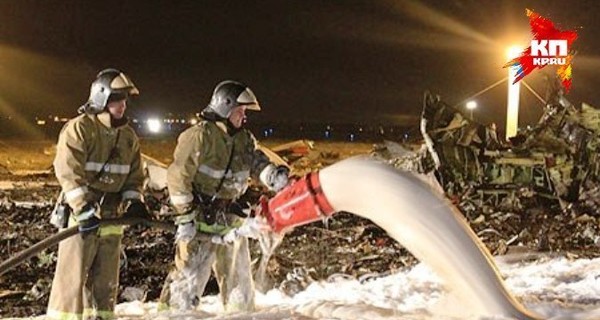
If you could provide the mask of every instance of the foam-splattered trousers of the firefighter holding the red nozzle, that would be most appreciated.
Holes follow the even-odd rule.
[[[254,281],[248,239],[231,244],[212,243],[199,233],[189,242],[177,243],[175,268],[163,286],[160,303],[176,310],[194,308],[208,282],[211,269],[219,284],[221,302],[227,312],[254,310]]]

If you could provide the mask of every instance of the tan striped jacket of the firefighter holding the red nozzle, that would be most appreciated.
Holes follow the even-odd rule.
[[[225,175],[232,146],[233,158]],[[241,129],[230,136],[222,122],[202,121],[177,140],[167,171],[171,203],[178,212],[185,212],[194,191],[214,196],[224,175],[217,198],[235,199],[248,188],[248,178],[258,179],[269,163],[250,131]]]

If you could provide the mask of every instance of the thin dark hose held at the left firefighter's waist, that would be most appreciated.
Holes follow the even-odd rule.
[[[148,220],[144,218],[115,218],[115,219],[104,219],[100,221],[100,226],[114,226],[114,225],[136,225],[142,224],[148,227],[157,228],[165,231],[175,232],[175,225],[172,222],[168,221],[156,221],[156,220]],[[20,265],[21,263],[27,261],[32,256],[38,254],[42,250],[50,248],[51,246],[70,238],[79,233],[78,226],[73,226],[64,230],[59,231],[58,233],[32,245],[31,247],[19,252],[18,254],[12,256],[8,260],[3,261],[0,264],[0,276],[14,267]]]

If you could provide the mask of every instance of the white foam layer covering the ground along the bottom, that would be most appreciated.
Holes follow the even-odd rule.
[[[600,258],[514,260],[500,257],[497,262],[506,285],[527,308],[548,319],[600,319]],[[119,304],[116,312],[119,319],[458,319],[448,309],[451,303],[442,302],[445,296],[439,279],[419,264],[362,283],[332,277],[293,297],[274,289],[258,294],[259,311],[248,314],[222,314],[216,296],[204,297],[199,309],[189,313],[157,313],[156,303],[139,301]]]

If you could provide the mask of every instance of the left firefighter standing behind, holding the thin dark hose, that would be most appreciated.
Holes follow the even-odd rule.
[[[70,212],[59,227],[77,225],[79,234],[59,245],[48,319],[114,318],[123,228],[100,221],[148,217],[139,141],[124,116],[128,98],[138,93],[124,73],[101,71],[89,100],[59,135],[54,170],[61,205]]]

